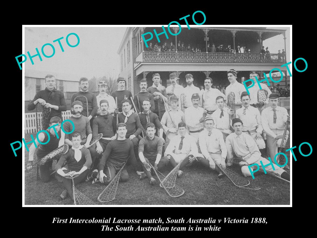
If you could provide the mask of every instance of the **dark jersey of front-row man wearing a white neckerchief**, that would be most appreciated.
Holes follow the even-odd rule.
[[[83,147],[80,149],[81,151],[81,159],[77,162],[75,160],[75,151],[74,149],[69,149],[65,155],[62,155],[60,160],[57,162],[55,166],[55,170],[61,169],[65,162],[67,162],[68,170],[70,171],[80,171],[83,166],[87,168],[92,164],[91,155],[89,149]]]

